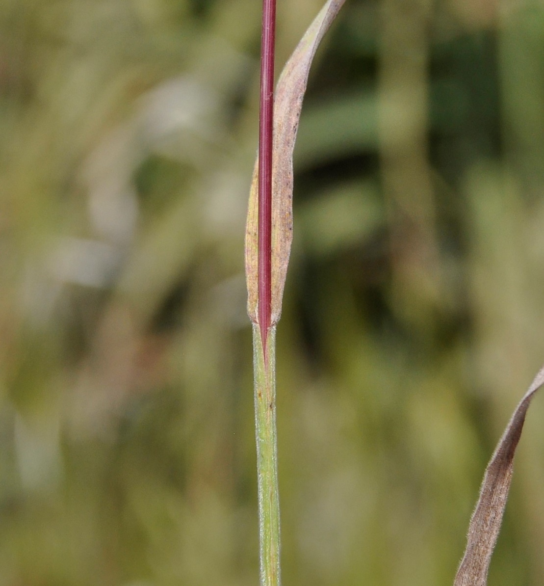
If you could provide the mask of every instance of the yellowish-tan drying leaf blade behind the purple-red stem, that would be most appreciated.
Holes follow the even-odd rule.
[[[345,0],[329,0],[289,57],[276,86],[272,163],[272,317],[278,322],[293,239],[293,150],[302,100],[317,47]],[[258,322],[258,160],[249,191],[245,231],[248,314]]]

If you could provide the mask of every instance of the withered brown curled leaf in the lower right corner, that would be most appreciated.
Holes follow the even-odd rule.
[[[467,547],[457,570],[454,586],[485,586],[491,556],[508,499],[514,454],[531,400],[544,384],[544,367],[536,375],[485,469],[480,497],[468,526]]]

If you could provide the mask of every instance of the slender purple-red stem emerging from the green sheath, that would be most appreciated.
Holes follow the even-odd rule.
[[[272,312],[272,130],[276,0],[262,2],[261,100],[259,104],[259,327],[266,360]]]

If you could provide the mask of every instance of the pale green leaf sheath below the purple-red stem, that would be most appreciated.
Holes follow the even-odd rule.
[[[258,324],[254,323],[253,365],[261,586],[279,586],[281,584],[275,359],[276,326],[273,325],[268,329],[265,360],[261,330]]]

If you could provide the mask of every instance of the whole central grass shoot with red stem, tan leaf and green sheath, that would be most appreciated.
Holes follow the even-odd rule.
[[[275,353],[292,241],[293,149],[310,65],[343,4],[344,0],[329,0],[323,6],[286,64],[275,101],[276,5],[275,0],[263,2],[259,149],[245,243],[248,312],[253,322],[261,586],[281,582]]]

